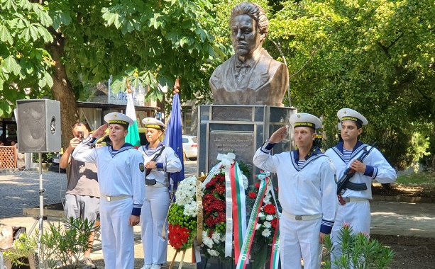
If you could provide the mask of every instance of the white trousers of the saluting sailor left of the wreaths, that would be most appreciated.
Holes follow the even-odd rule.
[[[132,209],[132,198],[100,200],[101,248],[106,269],[134,268],[133,226],[128,225]]]

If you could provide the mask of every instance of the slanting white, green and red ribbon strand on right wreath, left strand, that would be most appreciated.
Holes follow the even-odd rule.
[[[248,229],[246,231],[245,239],[243,240],[241,254],[236,260],[236,269],[246,268],[246,264],[248,263],[250,248],[255,236],[255,227],[257,226],[258,222],[258,214],[260,213],[261,205],[263,205],[263,199],[265,197],[267,187],[270,184],[269,176],[269,172],[262,173],[257,176],[257,178],[260,179],[260,187],[258,188],[258,195],[255,199],[252,212],[250,213]]]

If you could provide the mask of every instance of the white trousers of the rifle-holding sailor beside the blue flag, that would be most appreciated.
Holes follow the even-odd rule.
[[[145,264],[161,264],[167,261],[167,226],[169,191],[166,187],[145,186],[145,202],[141,212],[143,260]],[[165,238],[162,237],[165,225]]]

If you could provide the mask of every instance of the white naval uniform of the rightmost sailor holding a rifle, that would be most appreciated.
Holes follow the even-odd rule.
[[[343,142],[340,142],[338,145],[331,147],[331,149],[325,152],[336,166],[338,179],[343,176],[344,171],[351,165],[353,160],[360,156],[363,149],[367,146],[367,144],[358,141],[353,148],[351,159],[348,163],[346,163],[343,158]],[[370,150],[370,146],[367,147],[367,150]],[[370,151],[370,154],[364,159],[363,163],[367,166],[366,172],[356,172],[350,181],[352,183],[364,183],[367,185],[367,190],[346,189],[342,194],[343,198],[357,198],[358,201],[350,201],[346,202],[345,205],[338,205],[336,221],[331,232],[331,239],[335,246],[335,251],[331,255],[333,261],[335,257],[341,256],[341,251],[337,247],[339,244],[338,231],[344,223],[351,225],[353,233],[363,232],[370,234],[369,200],[372,199],[372,180],[378,181],[379,183],[392,183],[397,178],[395,169],[392,168],[376,148]]]

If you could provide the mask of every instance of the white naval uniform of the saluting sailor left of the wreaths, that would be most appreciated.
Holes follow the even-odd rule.
[[[89,137],[79,144],[72,156],[79,161],[97,164],[105,268],[132,269],[134,238],[133,227],[128,225],[128,221],[132,214],[141,214],[145,199],[143,156],[131,144],[124,144],[112,157],[111,146],[92,149],[91,140]],[[120,195],[126,195],[126,198],[115,200]],[[104,196],[115,199],[107,201]]]

